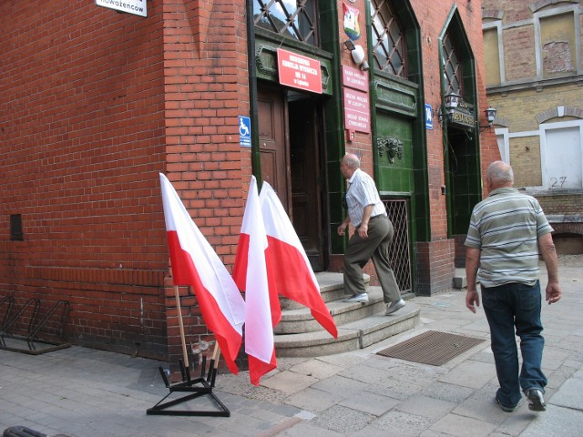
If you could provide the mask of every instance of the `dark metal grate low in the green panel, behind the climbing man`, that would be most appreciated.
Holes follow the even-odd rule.
[[[401,293],[413,291],[411,284],[411,251],[409,249],[408,201],[404,199],[384,199],[384,208],[394,228],[394,238],[389,259],[393,266],[394,278]]]

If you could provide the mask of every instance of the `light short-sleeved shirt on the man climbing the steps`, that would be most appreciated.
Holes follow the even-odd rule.
[[[381,201],[379,192],[374,185],[373,178],[356,168],[353,177],[348,179],[348,190],[346,191],[346,203],[348,204],[348,215],[355,228],[358,228],[363,221],[364,208],[374,205],[371,217],[384,215],[384,203]]]

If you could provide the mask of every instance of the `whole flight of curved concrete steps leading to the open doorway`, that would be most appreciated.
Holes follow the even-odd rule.
[[[403,309],[385,316],[386,305],[380,287],[368,287],[369,301],[343,302],[343,274],[316,273],[322,299],[338,328],[334,340],[313,319],[310,309],[281,299],[281,321],[275,327],[275,350],[281,357],[316,357],[355,351],[392,337],[419,324],[420,308],[407,302]],[[365,280],[368,283],[368,276]],[[404,299],[406,296],[404,296]]]

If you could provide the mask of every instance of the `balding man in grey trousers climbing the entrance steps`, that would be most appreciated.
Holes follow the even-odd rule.
[[[361,170],[360,159],[353,154],[343,157],[340,170],[348,179],[348,190],[344,196],[346,219],[338,227],[338,235],[344,235],[349,223],[355,232],[344,253],[344,291],[352,294],[348,302],[368,302],[364,286],[363,267],[373,259],[374,269],[383,289],[386,304],[385,315],[391,315],[404,307],[404,300],[389,261],[389,248],[393,242],[394,229],[386,215],[384,203],[374,185],[373,178]]]

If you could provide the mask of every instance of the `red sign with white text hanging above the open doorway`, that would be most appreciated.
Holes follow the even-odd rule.
[[[278,48],[277,69],[281,85],[322,94],[322,71],[317,59]]]

